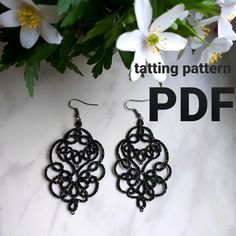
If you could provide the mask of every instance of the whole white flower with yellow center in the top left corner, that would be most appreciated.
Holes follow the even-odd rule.
[[[0,0],[0,3],[10,9],[0,15],[1,27],[21,26],[20,42],[24,48],[33,47],[39,35],[48,43],[61,43],[61,35],[50,25],[60,21],[56,6],[35,5],[27,0]]]

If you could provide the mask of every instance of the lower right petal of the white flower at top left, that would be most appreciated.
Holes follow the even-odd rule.
[[[40,26],[39,26],[39,34],[44,38],[45,41],[51,44],[60,44],[62,41],[62,36],[57,31],[56,28],[54,28],[52,25],[50,25],[47,21],[41,20]]]

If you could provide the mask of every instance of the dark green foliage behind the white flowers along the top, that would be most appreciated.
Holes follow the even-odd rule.
[[[92,73],[97,78],[104,69],[112,65],[116,52],[117,38],[123,33],[137,28],[134,13],[134,0],[33,0],[36,4],[57,4],[57,13],[61,22],[54,25],[63,36],[60,45],[48,44],[42,38],[30,49],[24,49],[19,41],[20,28],[0,28],[0,42],[3,47],[0,59],[0,71],[11,66],[25,67],[25,81],[30,96],[38,80],[40,63],[46,61],[60,73],[67,69],[79,76],[82,72],[74,64],[73,58],[85,55]],[[148,1],[148,0],[147,0]],[[153,19],[173,6],[183,3],[186,9],[202,13],[206,17],[219,14],[215,0],[150,0],[153,7]],[[0,4],[0,13],[6,7]],[[185,38],[196,32],[188,21],[176,21],[168,30]],[[134,58],[132,52],[119,51],[124,66],[129,69]]]

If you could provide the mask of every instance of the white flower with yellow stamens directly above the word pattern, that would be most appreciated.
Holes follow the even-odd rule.
[[[216,38],[212,43],[203,50],[199,63],[214,64],[219,58],[222,58],[222,53],[228,52],[232,47],[233,42],[227,38]]]

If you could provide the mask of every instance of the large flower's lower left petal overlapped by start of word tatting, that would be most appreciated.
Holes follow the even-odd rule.
[[[141,74],[136,71],[135,65],[137,64],[139,67],[144,65],[146,66],[147,50],[146,47],[140,46],[134,54],[134,60],[130,68],[130,78],[132,81],[137,81],[141,77]]]

